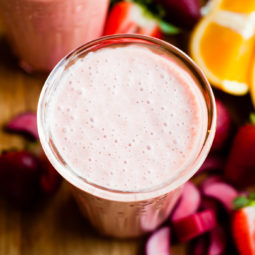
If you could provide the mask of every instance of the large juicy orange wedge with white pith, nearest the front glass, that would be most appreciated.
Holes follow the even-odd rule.
[[[255,8],[254,0],[247,2]],[[241,11],[246,13],[243,5],[240,0],[218,0],[197,25],[190,42],[191,57],[212,85],[233,95],[244,95],[249,90],[254,48],[253,15],[232,12],[243,8]]]

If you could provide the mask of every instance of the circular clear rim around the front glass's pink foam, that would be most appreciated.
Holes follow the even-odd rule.
[[[106,187],[99,186],[95,183],[88,182],[84,177],[78,175],[77,172],[72,170],[70,166],[63,160],[61,157],[61,154],[58,152],[57,148],[55,147],[53,140],[50,136],[50,130],[47,130],[46,125],[44,124],[44,119],[46,119],[47,111],[45,111],[45,108],[47,106],[47,102],[45,103],[45,98],[47,96],[47,93],[51,90],[51,87],[53,87],[54,82],[61,78],[61,75],[64,71],[64,67],[68,65],[75,57],[78,57],[79,54],[84,52],[89,52],[92,48],[92,50],[95,47],[100,46],[107,46],[112,45],[114,43],[125,43],[125,42],[145,42],[150,43],[152,45],[157,45],[164,50],[167,51],[168,54],[172,54],[178,59],[180,59],[188,70],[191,71],[191,73],[196,78],[197,82],[205,89],[207,95],[205,99],[204,92],[201,91],[203,94],[203,98],[206,103],[207,107],[207,113],[208,113],[208,126],[207,126],[207,133],[203,142],[203,145],[201,149],[198,151],[196,158],[192,159],[190,162],[190,166],[186,166],[185,168],[178,171],[177,177],[174,180],[167,180],[164,183],[161,183],[158,186],[153,186],[153,189],[147,189],[147,190],[141,190],[141,191],[120,191],[120,190],[113,190]],[[97,48],[96,48],[97,49]],[[68,68],[68,66],[67,66]],[[208,102],[207,102],[208,101]],[[209,105],[209,106],[208,106]],[[208,107],[210,108],[210,111],[208,110]],[[182,184],[184,184],[187,180],[189,180],[195,172],[198,170],[202,162],[205,160],[210,147],[213,142],[214,133],[215,133],[215,126],[216,126],[216,106],[215,106],[215,100],[212,88],[207,81],[205,75],[200,70],[200,68],[195,64],[195,62],[184,52],[182,52],[177,47],[173,46],[172,44],[149,36],[144,35],[136,35],[136,34],[117,34],[117,35],[110,35],[110,36],[103,36],[96,40],[93,40],[91,42],[88,42],[79,48],[73,50],[70,54],[68,54],[66,57],[64,57],[51,71],[49,74],[47,80],[45,81],[45,84],[43,86],[43,89],[40,94],[39,102],[38,102],[38,112],[37,112],[37,125],[38,125],[38,132],[40,141],[42,144],[42,147],[44,149],[44,152],[54,168],[72,185],[74,185],[76,188],[85,191],[87,193],[91,193],[98,197],[108,198],[109,200],[118,200],[118,201],[133,201],[135,200],[146,200],[150,199],[156,196],[160,196],[163,194],[166,194],[170,191],[173,191],[175,188],[180,187]],[[48,135],[46,135],[48,134]],[[64,164],[65,162],[65,164]],[[190,167],[191,169],[187,171],[187,173],[184,174],[184,176],[179,177],[178,176],[187,169],[187,167]]]

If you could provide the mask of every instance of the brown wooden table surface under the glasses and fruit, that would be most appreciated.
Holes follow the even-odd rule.
[[[3,127],[16,114],[36,110],[46,76],[23,72],[1,31],[0,56],[0,126]],[[217,94],[231,105],[237,123],[252,110],[248,97]],[[26,140],[21,136],[0,130],[0,151],[25,145]],[[115,240],[99,236],[80,215],[65,182],[53,198],[31,211],[11,208],[0,198],[1,255],[136,255],[143,254],[145,239]],[[185,249],[175,245],[171,252],[184,255]]]

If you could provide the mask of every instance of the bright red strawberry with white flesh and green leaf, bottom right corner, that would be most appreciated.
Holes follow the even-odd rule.
[[[232,231],[240,255],[255,255],[255,201],[238,197],[234,203],[241,207],[233,216]],[[241,202],[241,206],[240,206]]]

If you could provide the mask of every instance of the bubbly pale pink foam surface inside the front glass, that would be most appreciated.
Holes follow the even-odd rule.
[[[90,52],[50,105],[54,144],[72,170],[108,189],[152,189],[201,150],[207,109],[174,57],[136,44]]]

